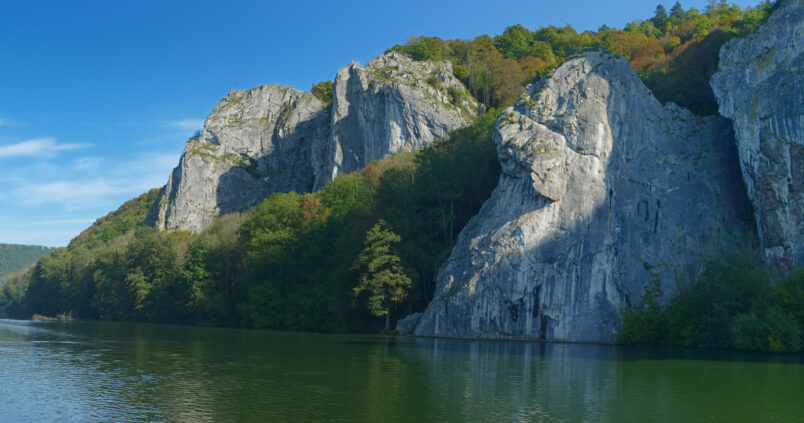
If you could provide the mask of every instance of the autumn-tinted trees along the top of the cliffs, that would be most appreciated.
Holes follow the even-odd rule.
[[[604,47],[626,58],[656,97],[693,112],[717,112],[709,78],[717,69],[720,47],[761,25],[774,8],[763,1],[742,9],[725,0],[712,1],[704,12],[684,10],[681,3],[667,12],[656,7],[654,17],[623,29],[603,25],[597,31],[548,26],[531,31],[522,25],[495,37],[442,40],[412,37],[391,50],[417,60],[449,60],[458,77],[488,107],[513,104],[523,86],[540,79],[578,50]]]

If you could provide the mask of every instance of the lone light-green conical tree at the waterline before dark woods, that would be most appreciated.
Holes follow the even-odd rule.
[[[366,233],[363,251],[355,262],[361,271],[355,295],[368,292],[368,308],[375,316],[385,316],[385,329],[390,327],[391,309],[408,295],[412,284],[402,269],[402,261],[393,252],[393,246],[402,238],[380,219]]]

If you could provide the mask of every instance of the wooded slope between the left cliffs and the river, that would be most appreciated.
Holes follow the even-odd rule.
[[[448,140],[378,160],[315,194],[274,194],[199,235],[142,225],[149,192],[10,278],[0,311],[379,329],[386,316],[424,309],[458,232],[496,185],[495,117],[489,111]]]

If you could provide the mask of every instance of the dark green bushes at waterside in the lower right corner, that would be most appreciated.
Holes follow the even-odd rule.
[[[756,245],[708,263],[667,305],[654,286],[622,313],[620,341],[794,352],[804,337],[804,269],[774,278]]]

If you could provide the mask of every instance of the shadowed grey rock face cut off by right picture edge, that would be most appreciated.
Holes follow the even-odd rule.
[[[734,121],[760,241],[779,274],[804,264],[804,2],[782,1],[755,33],[720,51],[711,80]]]

